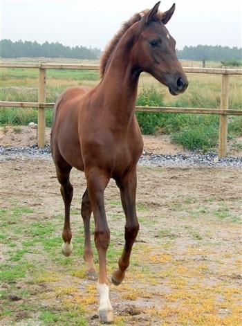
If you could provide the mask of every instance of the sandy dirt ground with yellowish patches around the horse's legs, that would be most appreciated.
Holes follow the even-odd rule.
[[[36,143],[35,129],[21,127],[21,131],[14,132],[7,128],[1,129],[1,145]],[[48,143],[49,129],[46,135]],[[184,152],[170,144],[167,136],[146,136],[144,141],[148,153]],[[238,168],[138,166],[140,233],[123,284],[111,284],[115,325],[241,325],[241,181]],[[72,183],[72,209],[80,212],[80,197],[85,190],[80,172],[72,172]],[[105,198],[111,242],[120,250],[124,218],[113,181]],[[32,209],[28,219],[20,219],[23,230],[29,219],[42,223],[50,221],[53,214],[62,216],[53,162],[19,158],[1,163],[1,208]],[[74,243],[80,246],[77,233],[82,221],[76,213],[72,219]],[[56,223],[52,236],[61,238],[62,220]],[[10,252],[32,234],[23,231],[19,239],[14,232],[3,233],[2,264],[14,266]],[[78,305],[85,307],[86,325],[99,325],[95,280],[71,273],[71,267],[65,264],[67,258],[63,258],[62,265],[56,265],[57,257],[62,256],[59,244],[56,247],[55,258],[39,248],[23,258],[34,261],[36,269],[43,269],[44,264],[46,272],[55,278],[42,275],[37,282],[27,273],[21,280],[2,284],[2,290],[8,290],[2,302],[10,313],[3,314],[1,325],[67,325],[62,321],[44,322],[39,307],[61,315],[68,309],[74,314]],[[83,269],[82,254],[75,253],[71,262],[77,270]],[[113,266],[108,268],[110,274]],[[16,294],[19,289],[20,296]],[[28,290],[28,296],[24,296],[24,290]],[[30,304],[32,309],[23,309]],[[70,319],[68,325],[77,324]]]

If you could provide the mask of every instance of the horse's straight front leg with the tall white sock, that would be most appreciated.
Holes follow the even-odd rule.
[[[97,291],[100,297],[100,305],[98,314],[103,323],[110,323],[113,321],[113,308],[109,301],[109,281],[106,277],[106,251],[110,242],[110,230],[104,209],[104,190],[109,183],[109,177],[102,170],[95,169],[86,172],[86,180],[95,219],[94,239],[99,258]]]

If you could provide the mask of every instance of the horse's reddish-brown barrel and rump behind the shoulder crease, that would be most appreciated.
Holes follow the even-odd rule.
[[[72,87],[64,91],[55,102],[50,136],[51,152],[55,165],[68,163],[83,170],[78,112],[87,89]],[[75,153],[75,155],[73,155]],[[63,163],[64,162],[64,163]]]

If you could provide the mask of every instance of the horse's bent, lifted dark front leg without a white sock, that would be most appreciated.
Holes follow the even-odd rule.
[[[118,261],[118,269],[116,269],[112,275],[113,284],[119,285],[124,279],[125,271],[129,266],[133,242],[135,241],[139,230],[139,224],[136,215],[136,169],[134,169],[129,175],[125,176],[124,179],[116,180],[116,183],[120,188],[122,206],[126,216],[124,250],[120,260]]]

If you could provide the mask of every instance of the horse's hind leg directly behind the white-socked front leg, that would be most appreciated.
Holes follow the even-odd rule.
[[[90,218],[91,218],[91,203],[89,200],[89,192],[86,189],[82,197],[82,219],[84,223],[84,260],[86,262],[86,274],[95,277],[97,275],[95,265],[93,263],[93,249],[91,246],[91,234],[90,234]]]

